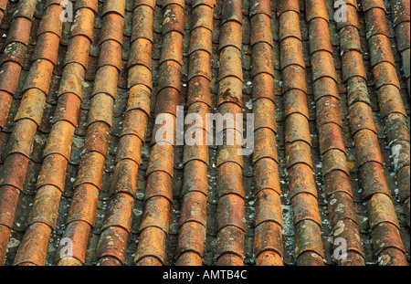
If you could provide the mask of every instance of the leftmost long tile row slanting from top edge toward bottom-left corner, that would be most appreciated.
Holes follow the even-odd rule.
[[[26,5],[25,11],[31,16],[33,16],[36,2],[37,1],[27,1],[23,4]],[[10,196],[9,198],[17,198],[18,193],[23,190],[27,164],[33,151],[34,137],[37,127],[39,126],[39,121],[41,121],[43,116],[49,82],[53,68],[56,65],[55,58],[58,54],[58,42],[59,37],[61,36],[62,26],[59,14],[62,11],[62,7],[59,4],[56,5],[51,3],[47,5],[44,17],[37,30],[36,56],[31,59],[32,65],[23,88],[23,103],[17,110],[15,119],[16,126],[11,133],[9,148],[5,158],[5,163],[10,164],[10,167],[3,167],[2,178],[0,180],[1,190],[4,192],[3,195],[8,195]],[[31,22],[31,18],[29,21]],[[19,71],[20,70],[21,68]],[[14,94],[15,91],[16,89],[13,89],[11,90],[11,93]],[[4,210],[4,205],[9,207],[7,209],[10,210]],[[1,223],[8,228],[11,228],[16,213],[16,203],[5,203],[2,204],[1,207],[0,212],[2,213],[2,216],[5,215],[5,220],[2,218]],[[50,229],[48,228],[46,229],[46,231],[49,230]],[[2,252],[5,252],[9,233],[10,230],[8,230],[8,234],[2,236],[5,237],[1,241],[0,249]],[[35,244],[40,241],[37,237],[36,241],[33,241],[30,237],[28,238],[30,244]],[[42,249],[42,247],[39,247],[39,249]],[[2,253],[1,256],[4,258],[4,253]],[[41,259],[41,254],[39,254],[38,257]],[[3,260],[4,259],[2,259],[2,261]]]

